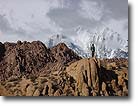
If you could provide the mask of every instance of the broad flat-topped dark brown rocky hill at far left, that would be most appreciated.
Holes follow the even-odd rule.
[[[40,69],[48,62],[53,62],[54,58],[49,53],[46,46],[40,41],[4,43],[5,56],[0,64],[1,80],[11,76],[27,77],[38,75]]]

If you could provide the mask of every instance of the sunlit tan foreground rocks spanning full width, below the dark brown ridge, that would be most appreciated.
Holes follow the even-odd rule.
[[[127,96],[128,72],[125,64],[118,71],[114,61],[107,66],[102,62],[97,65],[97,59],[81,59],[64,71],[50,73],[47,77],[14,77],[1,83],[0,95]]]

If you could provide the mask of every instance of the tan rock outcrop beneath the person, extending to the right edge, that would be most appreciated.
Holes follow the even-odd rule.
[[[66,71],[75,79],[82,96],[126,96],[127,67],[125,64],[124,67],[117,64],[116,60],[110,63],[104,61],[106,66],[103,66],[103,60],[100,62],[95,58],[81,59],[67,67]]]

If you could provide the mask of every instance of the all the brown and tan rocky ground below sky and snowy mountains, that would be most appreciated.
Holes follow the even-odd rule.
[[[128,60],[81,58],[64,43],[0,43],[2,96],[128,96]]]

